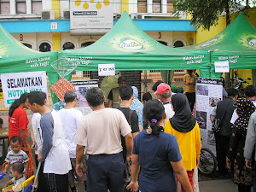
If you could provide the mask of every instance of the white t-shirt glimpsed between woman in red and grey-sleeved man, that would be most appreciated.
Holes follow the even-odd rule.
[[[34,131],[34,137],[35,137],[35,142],[38,145],[37,150],[35,150],[35,154],[39,154],[39,150],[42,149],[42,130],[40,127],[40,119],[41,119],[41,114],[40,113],[33,113],[31,124],[32,124],[32,129]]]

